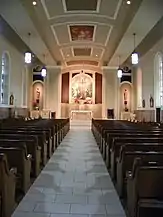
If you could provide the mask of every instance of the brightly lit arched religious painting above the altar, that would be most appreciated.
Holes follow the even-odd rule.
[[[72,102],[77,104],[92,104],[92,78],[80,73],[72,78]]]

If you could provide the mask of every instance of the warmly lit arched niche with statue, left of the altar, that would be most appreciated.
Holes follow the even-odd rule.
[[[33,110],[43,109],[43,84],[41,82],[35,82],[33,84]]]

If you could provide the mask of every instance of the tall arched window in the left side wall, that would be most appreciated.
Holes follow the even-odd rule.
[[[2,54],[1,61],[1,80],[0,80],[0,94],[1,94],[1,104],[8,105],[9,99],[9,70],[10,70],[10,61],[9,55],[4,52]]]

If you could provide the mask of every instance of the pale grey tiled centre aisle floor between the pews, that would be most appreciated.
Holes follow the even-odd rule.
[[[90,124],[72,124],[12,217],[125,217]]]

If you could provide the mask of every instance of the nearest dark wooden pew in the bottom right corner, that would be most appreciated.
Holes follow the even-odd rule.
[[[157,209],[163,213],[163,159],[153,160],[135,159],[127,175],[127,207],[131,217],[139,217],[141,208],[150,209],[151,216],[157,217]]]

